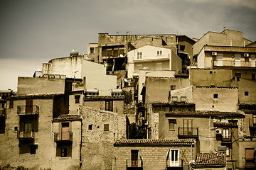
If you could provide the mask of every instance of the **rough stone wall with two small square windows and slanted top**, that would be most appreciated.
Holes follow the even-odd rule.
[[[112,169],[114,158],[114,140],[126,136],[124,115],[81,106],[82,147],[81,169]],[[104,125],[109,130],[104,131]],[[88,129],[92,125],[92,130]],[[90,161],[88,161],[90,160]]]

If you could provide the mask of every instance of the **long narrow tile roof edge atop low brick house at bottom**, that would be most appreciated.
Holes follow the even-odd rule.
[[[143,140],[117,140],[114,142],[114,145],[137,145],[137,144],[143,144],[143,145],[149,145],[149,144],[171,144],[171,145],[191,145],[196,142],[195,139],[182,139],[182,140],[149,140],[149,139],[143,139]]]

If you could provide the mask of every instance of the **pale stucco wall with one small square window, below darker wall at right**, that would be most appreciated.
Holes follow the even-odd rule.
[[[218,94],[218,98],[213,98]],[[193,87],[193,101],[196,111],[236,112],[238,104],[237,88]]]

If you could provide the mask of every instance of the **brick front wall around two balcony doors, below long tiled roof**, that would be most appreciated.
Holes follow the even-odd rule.
[[[195,148],[191,145],[127,145],[114,147],[114,169],[125,170],[126,160],[131,159],[131,150],[139,150],[143,160],[143,169],[166,169],[166,154],[168,149],[179,149],[179,158],[183,164],[195,159]]]

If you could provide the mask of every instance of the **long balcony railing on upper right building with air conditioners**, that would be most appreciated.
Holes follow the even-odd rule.
[[[255,67],[255,61],[235,61],[235,60],[213,60],[213,66],[220,67]]]

